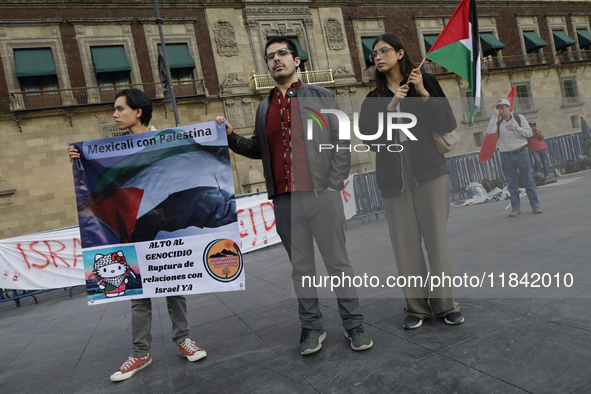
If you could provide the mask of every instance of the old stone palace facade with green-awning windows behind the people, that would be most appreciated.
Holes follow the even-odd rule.
[[[282,34],[297,40],[309,58],[301,78],[333,90],[341,108],[352,113],[373,83],[364,42],[396,33],[420,63],[458,1],[159,4],[167,48],[184,50],[195,64],[173,76],[181,123],[225,115],[238,133],[250,135],[256,108],[269,90],[263,60],[267,37]],[[579,115],[591,120],[591,102],[585,97],[591,86],[591,52],[585,41],[591,32],[591,1],[490,0],[478,7],[481,34],[504,46],[483,57],[483,106],[473,127],[467,124],[467,83],[432,63],[423,68],[437,76],[456,111],[462,141],[452,153],[479,149],[491,105],[513,86],[518,111],[537,121],[547,136],[580,130]],[[532,34],[546,45],[539,46]],[[152,123],[174,126],[172,114],[159,105],[159,42],[152,0],[0,4],[0,238],[77,224],[66,148],[117,132],[111,115],[118,86],[144,89],[155,104]],[[121,70],[98,72],[97,47],[119,51],[127,63]],[[19,69],[17,58],[38,50],[50,53],[48,75]],[[231,156],[236,194],[264,190],[261,164]],[[373,160],[369,153],[353,154],[352,171],[373,169]]]

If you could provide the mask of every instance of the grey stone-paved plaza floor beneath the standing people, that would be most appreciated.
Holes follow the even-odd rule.
[[[322,290],[322,350],[298,352],[299,320],[282,246],[245,256],[246,291],[188,298],[192,338],[208,356],[177,354],[163,298],[155,299],[153,363],[109,375],[130,353],[129,302],[88,306],[83,287],[0,304],[1,393],[591,393],[591,172],[539,189],[544,209],[509,218],[508,201],[452,208],[454,275],[570,273],[556,289],[459,288],[466,323],[432,317],[405,331],[394,289],[360,289],[374,347],[355,352],[330,291]],[[396,275],[386,221],[351,222],[356,274]],[[317,258],[319,267],[322,265]],[[319,273],[323,270],[319,268]],[[385,277],[385,276],[384,276]],[[518,287],[524,287],[523,285]]]

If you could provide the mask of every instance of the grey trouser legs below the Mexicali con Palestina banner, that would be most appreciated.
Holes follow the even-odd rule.
[[[187,320],[187,299],[183,296],[166,297],[168,314],[172,321],[172,340],[178,345],[190,338]],[[131,300],[131,335],[133,357],[144,357],[152,345],[152,300]]]

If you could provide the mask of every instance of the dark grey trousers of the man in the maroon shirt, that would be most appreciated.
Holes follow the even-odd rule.
[[[322,313],[318,292],[313,286],[302,286],[302,276],[316,275],[314,242],[324,260],[328,275],[355,275],[345,246],[345,214],[338,191],[283,193],[273,198],[277,233],[289,255],[291,278],[299,303],[302,328],[320,330]],[[359,299],[354,288],[335,288],[343,327],[350,330],[363,322]]]

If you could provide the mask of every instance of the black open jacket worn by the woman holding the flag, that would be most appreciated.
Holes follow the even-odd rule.
[[[405,78],[402,84],[405,84]],[[423,102],[417,94],[414,85],[410,85],[409,92],[400,102],[400,112],[407,112],[417,117],[417,125],[410,129],[417,141],[408,142],[411,163],[416,181],[424,181],[449,173],[445,156],[437,150],[432,132],[451,133],[457,127],[451,106],[439,86],[437,79],[431,74],[423,74],[423,85],[431,97]],[[378,187],[383,197],[397,197],[402,194],[404,187],[402,153],[388,152],[383,146],[377,150],[375,144],[390,145],[399,143],[400,130],[393,133],[395,141],[388,141],[386,135],[386,107],[394,93],[386,89],[386,97],[377,98],[375,90],[371,91],[361,106],[360,131],[364,135],[375,134],[378,130],[379,112],[383,113],[384,131],[382,136],[374,141],[364,141],[376,152],[376,177]],[[402,123],[408,123],[408,120]],[[372,144],[374,144],[372,146]],[[394,148],[392,148],[394,150]]]

